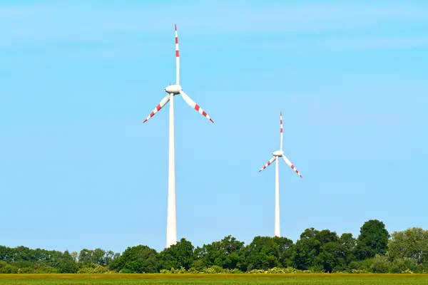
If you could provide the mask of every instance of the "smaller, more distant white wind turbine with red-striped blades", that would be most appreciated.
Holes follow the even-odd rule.
[[[280,124],[281,124],[281,138],[280,138],[280,150],[276,150],[272,152],[273,157],[263,166],[259,172],[264,170],[266,167],[272,164],[272,162],[275,162],[275,237],[280,237],[280,177],[278,175],[278,157],[282,157],[287,163],[287,165],[294,170],[297,175],[300,176],[300,178],[303,178],[302,175],[300,175],[299,170],[296,169],[296,167],[288,160],[287,157],[285,157],[284,152],[282,151],[282,112],[280,112]]]

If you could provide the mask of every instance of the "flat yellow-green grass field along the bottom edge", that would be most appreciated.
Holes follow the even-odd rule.
[[[428,284],[428,274],[0,274],[0,284]]]

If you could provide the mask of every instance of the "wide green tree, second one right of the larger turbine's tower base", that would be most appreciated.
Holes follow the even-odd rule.
[[[244,243],[228,236],[219,242],[204,244],[195,249],[195,266],[200,268],[220,266],[224,269],[243,269]]]

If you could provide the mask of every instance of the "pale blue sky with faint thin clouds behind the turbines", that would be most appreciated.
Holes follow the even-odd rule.
[[[428,228],[426,1],[3,1],[0,244],[165,247],[175,81],[178,237]]]

